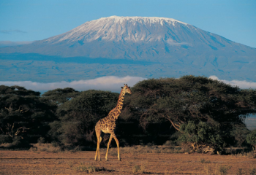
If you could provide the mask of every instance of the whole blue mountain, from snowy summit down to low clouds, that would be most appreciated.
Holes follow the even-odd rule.
[[[43,61],[45,67],[33,71],[32,79],[56,81],[106,75],[180,77],[195,74],[256,81],[255,48],[171,18],[100,18],[31,44],[1,47],[0,60],[3,60],[0,71],[9,76],[1,74],[0,78],[10,80],[23,79],[18,74],[23,74],[26,68],[34,69],[38,66],[37,61]],[[25,61],[24,66],[28,65],[16,65],[19,71],[13,66],[7,69],[10,60],[13,63]],[[70,62],[72,66],[69,67]],[[56,64],[59,71],[51,71],[50,67]],[[80,68],[89,64],[91,69]],[[79,74],[69,69],[76,69]],[[90,75],[83,76],[85,71]],[[39,74],[41,77],[37,77]]]

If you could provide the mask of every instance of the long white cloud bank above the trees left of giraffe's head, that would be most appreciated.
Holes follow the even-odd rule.
[[[35,91],[53,90],[56,88],[74,88],[75,90],[110,90],[118,92],[121,90],[121,86],[124,84],[132,87],[137,82],[143,80],[142,77],[99,77],[97,79],[79,80],[72,82],[31,82],[31,81],[17,81],[17,82],[0,82],[0,85],[18,85],[23,86],[26,89]]]

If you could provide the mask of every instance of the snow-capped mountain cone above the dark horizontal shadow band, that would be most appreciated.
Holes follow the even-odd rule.
[[[251,47],[171,18],[118,16],[92,20],[32,44],[0,48],[0,52],[160,62],[256,53]]]

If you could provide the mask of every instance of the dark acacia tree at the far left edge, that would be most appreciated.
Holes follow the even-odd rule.
[[[36,142],[40,136],[46,136],[48,123],[56,120],[56,105],[39,95],[19,86],[0,86],[1,142],[18,137]]]

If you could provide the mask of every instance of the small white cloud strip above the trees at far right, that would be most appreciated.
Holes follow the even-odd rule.
[[[219,79],[215,75],[211,75],[209,78],[210,79],[217,79],[219,81],[225,82],[226,84],[230,84],[230,85],[233,85],[233,86],[238,86],[239,88],[242,88],[242,89],[249,89],[249,88],[255,89],[256,88],[256,82],[247,82],[245,80],[244,81],[239,81],[239,80],[236,80],[236,79],[228,81],[228,80],[225,80],[225,79]]]

